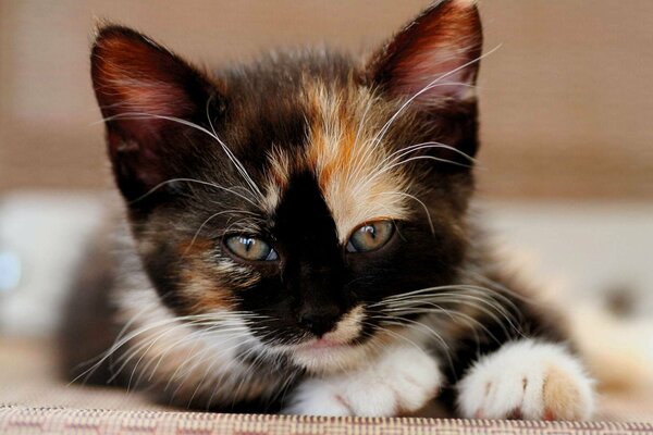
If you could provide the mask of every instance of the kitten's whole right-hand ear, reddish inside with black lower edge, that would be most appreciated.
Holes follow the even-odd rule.
[[[466,167],[478,149],[476,80],[483,44],[475,0],[438,0],[377,51],[365,80],[402,108],[426,117],[422,124],[458,152],[432,149],[443,161]],[[461,158],[461,156],[467,156]]]

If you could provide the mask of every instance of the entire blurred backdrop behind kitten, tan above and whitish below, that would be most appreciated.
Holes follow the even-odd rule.
[[[84,240],[114,196],[89,80],[97,18],[220,65],[288,45],[365,53],[428,4],[0,0],[0,333],[51,331]],[[480,9],[485,51],[496,48],[479,83],[488,225],[533,281],[564,289],[563,304],[616,300],[650,316],[653,1]],[[653,355],[653,336],[641,343]]]

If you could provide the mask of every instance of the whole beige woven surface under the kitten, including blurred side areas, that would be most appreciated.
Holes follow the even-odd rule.
[[[602,395],[599,418],[609,423],[235,415],[180,412],[136,393],[67,385],[54,361],[48,343],[0,339],[0,434],[653,433],[651,391]]]

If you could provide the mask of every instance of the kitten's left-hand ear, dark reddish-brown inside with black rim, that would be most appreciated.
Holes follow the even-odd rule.
[[[195,67],[127,27],[98,29],[91,52],[95,94],[107,126],[119,188],[130,201],[184,176],[189,123],[204,124],[214,86]],[[214,112],[213,112],[214,113]]]

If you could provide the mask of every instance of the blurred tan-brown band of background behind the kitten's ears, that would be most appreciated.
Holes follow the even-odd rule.
[[[405,1],[0,0],[0,191],[108,187],[89,80],[96,18],[192,61],[279,46],[374,48],[429,4]],[[486,0],[480,7],[481,190],[493,198],[653,198],[653,3]]]

